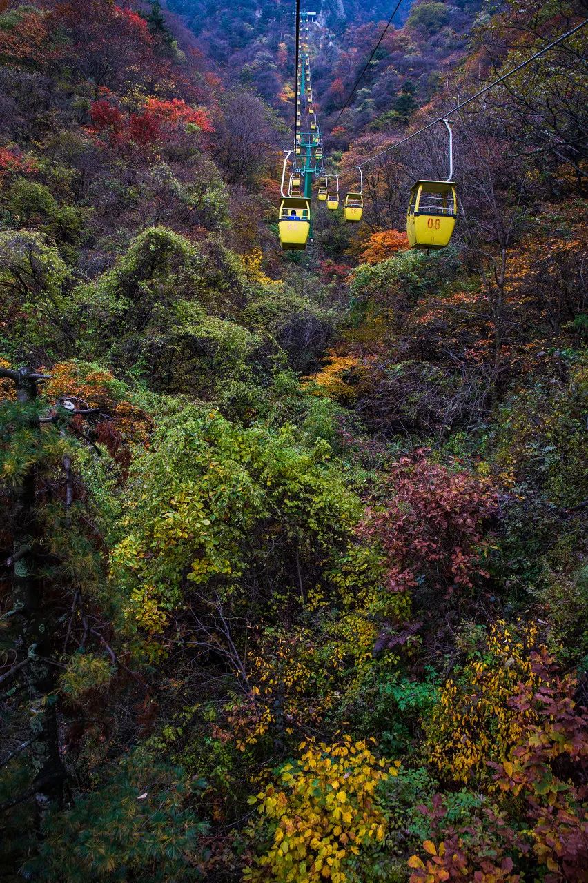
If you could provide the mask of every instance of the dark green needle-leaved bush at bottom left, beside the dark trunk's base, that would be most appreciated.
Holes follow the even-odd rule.
[[[207,826],[187,804],[202,785],[136,753],[68,811],[49,817],[39,856],[23,871],[51,883],[201,879],[199,838]]]

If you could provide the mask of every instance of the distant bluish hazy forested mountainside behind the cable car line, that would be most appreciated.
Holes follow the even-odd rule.
[[[294,30],[291,4],[231,4],[170,0],[200,49],[222,66],[223,79],[259,93],[283,117],[293,112]],[[338,143],[366,126],[406,123],[466,55],[481,0],[456,4],[403,0],[369,64],[343,120],[339,111],[390,18],[389,4],[349,0],[314,4],[314,93],[326,126],[339,122]],[[310,7],[309,7],[310,8]],[[408,19],[408,20],[407,20]],[[403,27],[404,26],[404,27]]]

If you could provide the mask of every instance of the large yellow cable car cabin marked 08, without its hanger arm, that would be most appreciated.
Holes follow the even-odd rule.
[[[417,181],[411,188],[406,233],[411,248],[444,248],[456,226],[456,185]]]

